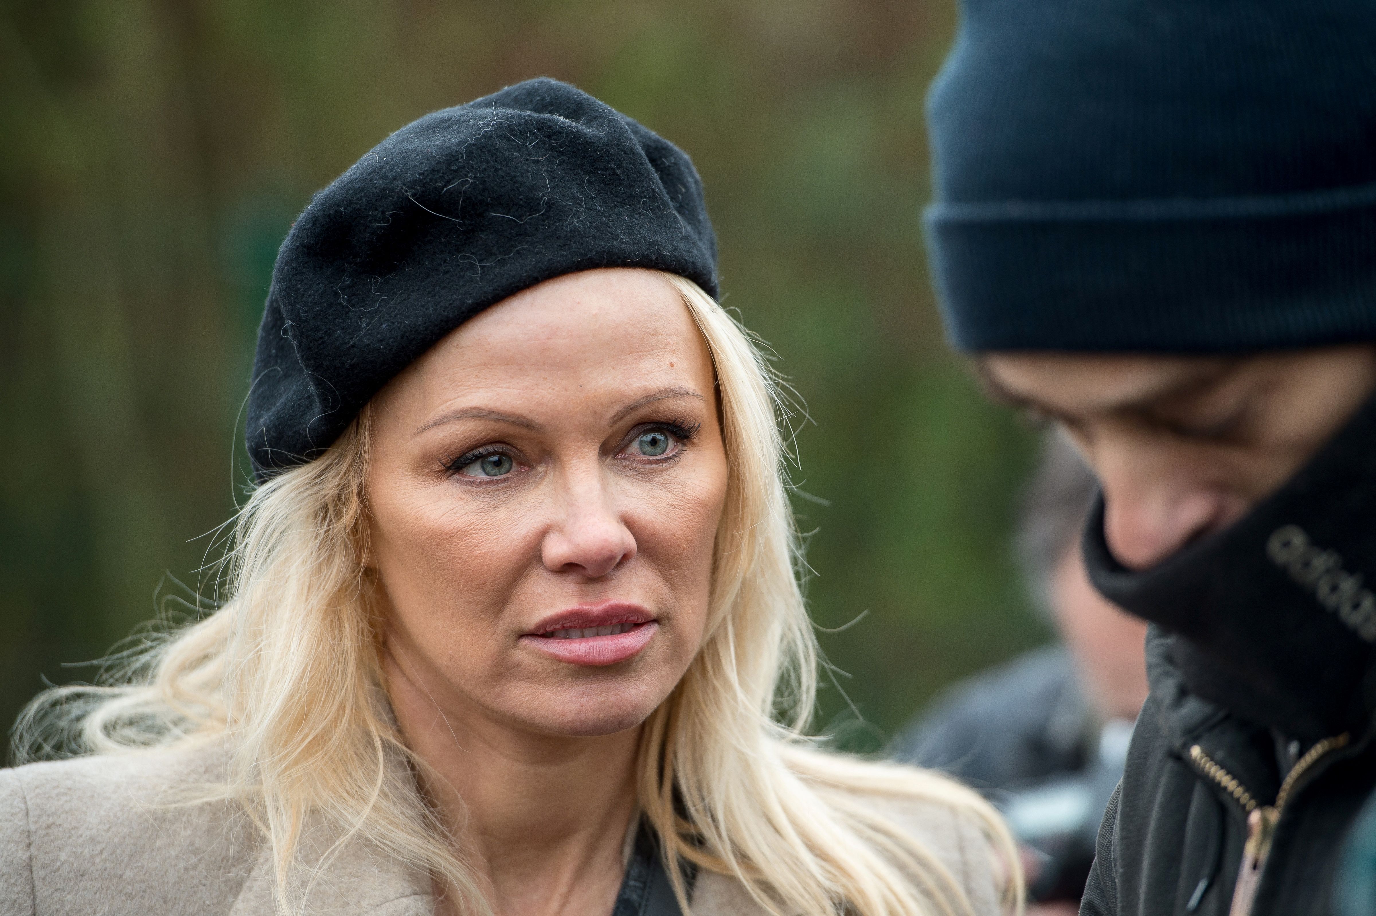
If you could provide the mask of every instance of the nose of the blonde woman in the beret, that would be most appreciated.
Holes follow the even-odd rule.
[[[559,501],[559,519],[541,543],[546,569],[600,579],[636,556],[636,538],[601,468],[566,472]]]

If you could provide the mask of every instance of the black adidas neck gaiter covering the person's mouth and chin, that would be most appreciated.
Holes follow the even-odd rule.
[[[1134,572],[1099,497],[1095,587],[1174,634],[1190,690],[1287,737],[1364,730],[1376,708],[1376,397],[1295,477],[1223,531]]]

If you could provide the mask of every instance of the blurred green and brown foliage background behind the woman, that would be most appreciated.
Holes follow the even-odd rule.
[[[813,615],[868,612],[821,634],[819,728],[874,750],[1047,638],[1009,550],[1033,436],[945,351],[921,249],[954,25],[951,0],[0,3],[0,721],[197,585],[248,487],[235,419],[310,194],[541,74],[694,157],[725,304],[809,406]]]

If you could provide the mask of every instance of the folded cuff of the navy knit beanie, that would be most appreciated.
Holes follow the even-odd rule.
[[[959,351],[1248,352],[1376,340],[1376,186],[925,213]]]

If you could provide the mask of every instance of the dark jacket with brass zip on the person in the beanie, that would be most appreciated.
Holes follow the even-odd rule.
[[[1271,729],[1192,695],[1172,642],[1157,627],[1148,637],[1152,696],[1104,816],[1082,916],[1229,913],[1248,820],[1255,836],[1276,809],[1251,915],[1329,913],[1339,850],[1376,788],[1373,729],[1300,754],[1277,747]],[[1278,800],[1282,769],[1293,776]]]

